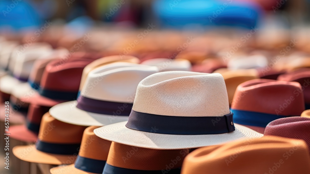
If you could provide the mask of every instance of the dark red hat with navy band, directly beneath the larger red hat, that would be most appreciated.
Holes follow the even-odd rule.
[[[11,126],[11,137],[28,143],[34,143],[37,140],[40,122],[42,116],[48,112],[51,107],[30,104],[26,117],[26,125]]]

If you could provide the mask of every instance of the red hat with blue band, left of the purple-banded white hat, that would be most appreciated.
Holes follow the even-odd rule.
[[[20,100],[47,107],[75,100],[83,68],[96,58],[98,57],[91,57],[85,53],[74,53],[70,58],[48,63],[42,74],[39,92]]]

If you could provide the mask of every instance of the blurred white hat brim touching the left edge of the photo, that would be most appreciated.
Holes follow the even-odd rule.
[[[5,76],[2,76],[0,78],[0,91],[3,92],[3,93],[6,93],[6,94],[11,94],[12,92],[12,89],[22,83],[23,81],[20,81],[18,79],[16,79],[15,77],[13,76],[10,76],[10,75],[5,75]]]

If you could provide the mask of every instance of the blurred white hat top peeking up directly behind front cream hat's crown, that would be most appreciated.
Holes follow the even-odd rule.
[[[157,66],[160,72],[163,71],[190,71],[191,62],[186,59],[154,58],[141,62],[143,65]]]

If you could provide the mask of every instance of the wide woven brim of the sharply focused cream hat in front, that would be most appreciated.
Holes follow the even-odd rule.
[[[137,131],[127,128],[127,121],[103,126],[94,130],[98,137],[116,143],[148,149],[188,149],[233,140],[260,138],[263,134],[245,126],[235,124],[235,131],[213,135],[170,135]]]

